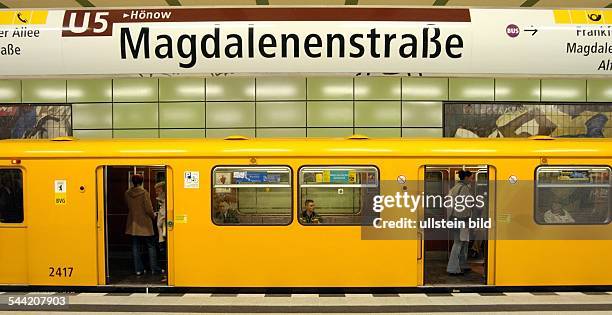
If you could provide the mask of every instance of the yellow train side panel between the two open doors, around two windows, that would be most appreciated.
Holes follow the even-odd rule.
[[[214,165],[249,165],[249,159],[175,161],[176,183],[186,170],[199,169],[199,190],[175,189],[175,217],[187,222],[174,227],[177,286],[220,287],[364,287],[416,286],[416,240],[364,241],[359,226],[215,226],[211,221],[210,170]],[[258,165],[377,165],[381,175],[391,169],[417,169],[399,160],[266,158]],[[197,167],[196,167],[197,166]],[[416,176],[416,175],[415,175]],[[385,178],[381,178],[385,180]],[[294,210],[295,212],[295,210]],[[295,213],[294,213],[295,215]]]

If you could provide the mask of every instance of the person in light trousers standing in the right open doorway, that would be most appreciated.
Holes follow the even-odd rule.
[[[474,182],[474,173],[470,171],[459,171],[459,181],[451,190],[448,192],[449,196],[452,196],[454,200],[457,200],[458,196],[469,196],[472,195],[472,184]],[[461,209],[459,207],[450,207],[448,210],[449,220],[465,221],[465,227],[460,229],[453,229],[451,231],[453,237],[453,247],[448,258],[448,264],[446,266],[446,272],[449,275],[463,275],[464,272],[470,271],[467,263],[468,256],[468,244],[470,242],[470,230],[468,228],[469,218],[472,215],[472,209],[463,205]]]

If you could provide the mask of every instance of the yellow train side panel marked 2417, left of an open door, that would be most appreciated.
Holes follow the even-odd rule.
[[[96,285],[95,167],[91,161],[70,159],[24,166],[31,176],[26,196],[29,283]],[[66,180],[63,205],[55,201],[55,180]]]

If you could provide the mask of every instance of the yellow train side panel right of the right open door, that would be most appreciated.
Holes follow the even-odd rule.
[[[610,159],[548,159],[548,165],[609,165]],[[534,220],[535,169],[540,159],[495,162],[500,170],[496,285],[611,285],[612,224],[539,225]],[[504,185],[517,175],[519,184]],[[520,184],[520,181],[529,182]],[[587,239],[584,239],[585,236]],[[589,239],[590,238],[590,239]]]

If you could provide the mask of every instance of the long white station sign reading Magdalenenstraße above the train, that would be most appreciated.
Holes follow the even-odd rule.
[[[612,74],[612,10],[0,10],[2,76]]]

